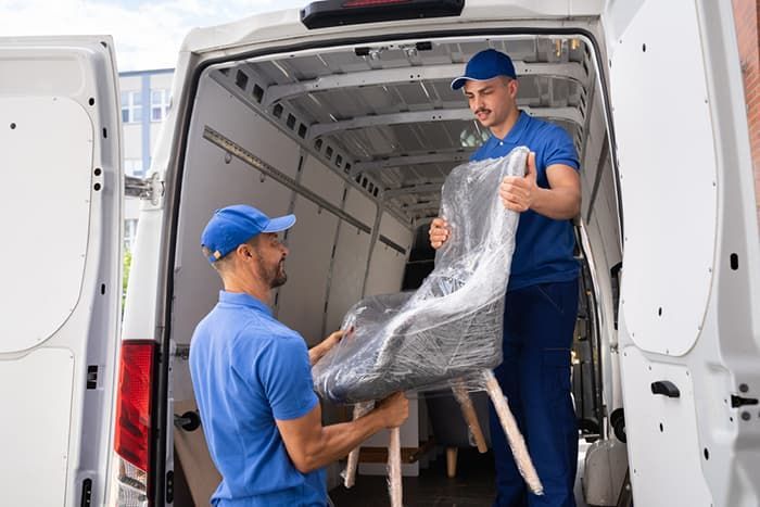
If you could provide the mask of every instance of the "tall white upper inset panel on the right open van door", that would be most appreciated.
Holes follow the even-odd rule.
[[[684,45],[677,65],[666,55],[673,38]],[[715,149],[694,2],[646,2],[611,60],[624,272],[637,280],[623,284],[621,307],[637,347],[681,356],[694,345],[705,318],[718,212]]]

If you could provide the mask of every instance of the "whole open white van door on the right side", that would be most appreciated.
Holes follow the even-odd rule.
[[[635,505],[760,505],[760,254],[730,1],[609,1]]]

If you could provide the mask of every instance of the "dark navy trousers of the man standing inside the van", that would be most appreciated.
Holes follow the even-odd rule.
[[[525,439],[544,495],[527,490],[491,404],[494,507],[575,506],[578,424],[570,397],[570,348],[577,313],[578,280],[507,293],[504,362],[494,375]]]

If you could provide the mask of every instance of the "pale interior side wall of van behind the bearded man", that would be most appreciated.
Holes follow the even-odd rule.
[[[267,164],[342,208],[372,231],[366,232],[302,197],[204,139],[208,126]],[[267,119],[215,80],[202,78],[190,127],[175,263],[173,338],[189,344],[195,325],[214,306],[221,282],[200,251],[200,236],[214,210],[249,203],[270,216],[294,213],[286,240],[288,282],[279,289],[276,316],[309,345],[340,327],[363,295],[401,289],[411,230],[302,150]],[[375,229],[379,233],[373,235]],[[404,252],[378,239],[389,238]],[[372,244],[372,241],[375,243]],[[371,253],[371,259],[370,259]],[[175,362],[175,400],[192,400],[187,362]]]

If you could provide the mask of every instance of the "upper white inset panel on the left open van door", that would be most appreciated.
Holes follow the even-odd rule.
[[[3,228],[8,238],[13,238],[15,249],[12,250],[18,249],[17,262],[0,267],[3,283],[14,288],[0,295],[0,304],[8,310],[0,322],[0,333],[5,337],[0,343],[0,353],[11,353],[27,351],[49,340],[68,319],[79,300],[92,175],[75,169],[92,166],[92,143],[98,132],[92,129],[87,110],[68,97],[14,97],[3,98],[2,102],[3,145],[16,148],[9,153],[8,167],[27,169],[9,172],[5,182],[9,188],[27,193],[26,202],[45,203],[20,208],[20,202],[13,199],[2,204],[4,216],[22,214],[21,219],[9,220]],[[45,150],[40,150],[40,138],[36,136],[50,140]],[[30,153],[38,155],[29,161]],[[51,172],[51,168],[59,170]],[[51,213],[52,210],[55,213]],[[58,262],[40,263],[35,269],[18,269],[25,251],[41,239],[40,229],[29,224],[46,224],[42,236],[56,245]],[[49,280],[58,283],[51,286]],[[30,319],[21,308],[39,297],[41,287],[49,287],[50,301],[39,305],[36,318]]]

